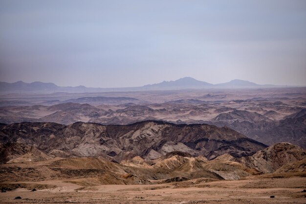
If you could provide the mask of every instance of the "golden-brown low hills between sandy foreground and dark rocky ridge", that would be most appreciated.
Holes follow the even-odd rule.
[[[169,152],[155,160],[136,156],[121,163],[110,162],[103,157],[25,162],[21,160],[25,155],[13,160],[15,162],[0,164],[1,184],[16,180],[26,182],[53,179],[65,179],[66,182],[83,186],[163,184],[186,180],[194,183],[240,180],[264,172],[271,173],[274,169],[276,174],[269,176],[306,175],[305,150],[289,143],[275,144],[251,157],[234,158],[223,154],[214,160],[207,160],[203,156],[193,157],[179,151]]]

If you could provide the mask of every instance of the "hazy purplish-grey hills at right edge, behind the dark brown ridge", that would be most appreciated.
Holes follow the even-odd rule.
[[[268,112],[268,115],[273,115],[273,112]],[[306,109],[280,121],[272,121],[258,113],[236,110],[219,114],[214,120],[207,121],[207,123],[219,127],[228,126],[268,145],[290,142],[306,147]]]

